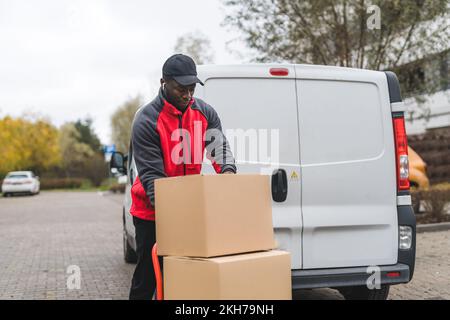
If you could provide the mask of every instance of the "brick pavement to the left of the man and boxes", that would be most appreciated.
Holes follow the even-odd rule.
[[[67,289],[71,265],[80,267],[80,290]],[[0,299],[126,299],[133,271],[123,260],[117,196],[0,199]]]

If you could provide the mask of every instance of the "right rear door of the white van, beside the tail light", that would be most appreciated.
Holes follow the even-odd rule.
[[[303,269],[395,264],[395,149],[385,74],[296,70]]]

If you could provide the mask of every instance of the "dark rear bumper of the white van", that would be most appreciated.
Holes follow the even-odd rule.
[[[398,277],[388,276],[399,273]],[[348,286],[367,286],[367,280],[374,272],[368,267],[292,270],[292,289],[338,288]],[[409,282],[410,269],[403,263],[391,266],[380,266],[382,285],[394,285]]]

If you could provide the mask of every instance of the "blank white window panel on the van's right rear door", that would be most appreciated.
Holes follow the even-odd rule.
[[[375,84],[298,80],[302,165],[371,159],[383,152]]]

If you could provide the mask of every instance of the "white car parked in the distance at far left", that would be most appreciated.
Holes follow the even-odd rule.
[[[2,193],[7,197],[14,193],[38,194],[39,177],[31,171],[14,171],[6,175],[2,184]]]

